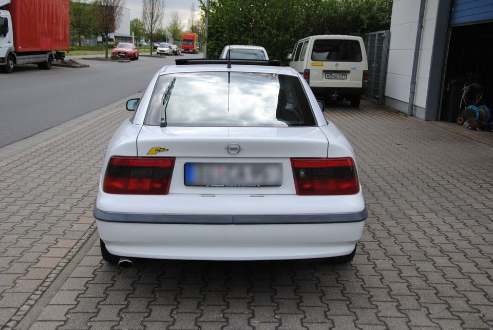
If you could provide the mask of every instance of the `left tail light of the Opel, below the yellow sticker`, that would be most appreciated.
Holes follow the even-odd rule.
[[[174,158],[110,158],[103,191],[131,195],[167,195],[175,166]]]

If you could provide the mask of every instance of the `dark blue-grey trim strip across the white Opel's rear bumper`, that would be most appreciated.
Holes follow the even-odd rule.
[[[166,223],[166,224],[296,224],[296,223],[344,223],[364,221],[368,217],[365,207],[360,212],[320,215],[166,215],[114,213],[92,210],[94,218],[106,222]]]

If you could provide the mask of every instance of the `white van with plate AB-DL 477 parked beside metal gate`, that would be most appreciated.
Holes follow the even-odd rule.
[[[299,40],[289,66],[303,74],[315,95],[359,106],[368,83],[363,38],[353,35],[312,35]]]

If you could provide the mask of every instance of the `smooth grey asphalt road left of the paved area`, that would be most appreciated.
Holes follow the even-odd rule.
[[[183,55],[201,58],[202,54]],[[25,139],[144,90],[162,66],[177,57],[145,57],[130,63],[80,60],[89,68],[16,66],[0,73],[0,147]]]

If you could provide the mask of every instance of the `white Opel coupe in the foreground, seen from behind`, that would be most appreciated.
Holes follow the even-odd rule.
[[[176,60],[127,102],[93,209],[106,261],[353,259],[367,217],[353,149],[278,65]]]

